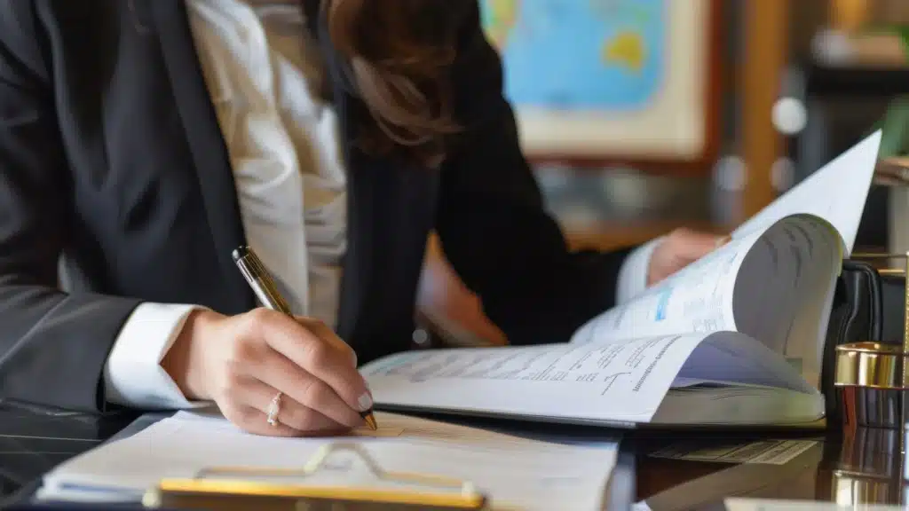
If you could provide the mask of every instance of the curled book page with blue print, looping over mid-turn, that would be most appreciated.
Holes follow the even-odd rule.
[[[786,217],[594,317],[571,342],[736,331],[788,358],[816,386],[840,243],[831,225],[818,217]],[[673,386],[690,382],[678,380]]]

